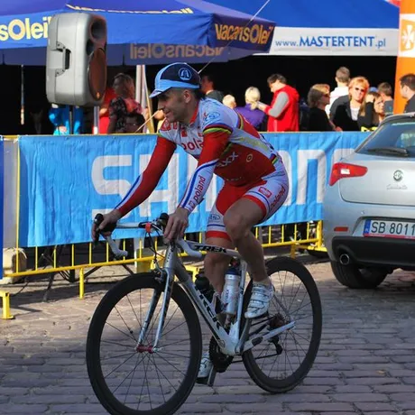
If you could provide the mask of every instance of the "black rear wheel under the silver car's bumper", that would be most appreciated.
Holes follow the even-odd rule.
[[[383,268],[359,268],[355,264],[342,265],[336,261],[331,262],[331,269],[337,281],[356,289],[376,288],[389,273]]]

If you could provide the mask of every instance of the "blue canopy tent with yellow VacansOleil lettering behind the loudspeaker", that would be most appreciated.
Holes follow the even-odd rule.
[[[268,51],[274,27],[271,21],[202,0],[2,0],[4,63],[43,65],[51,16],[77,11],[106,18],[109,64],[146,63],[162,55],[177,60],[181,49],[173,45],[184,51],[183,45],[190,45],[185,58],[238,58]]]

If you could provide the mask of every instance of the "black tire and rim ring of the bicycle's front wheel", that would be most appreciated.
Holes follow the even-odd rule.
[[[164,283],[161,285],[154,277],[154,272],[143,272],[131,275],[123,281],[117,282],[110,291],[106,292],[106,295],[98,304],[94,316],[91,319],[87,339],[88,376],[98,400],[112,415],[172,414],[187,400],[189,393],[196,383],[202,353],[200,323],[198,314],[192,302],[189,300],[189,297],[177,283],[174,283],[171,292],[171,300],[176,302],[186,320],[187,327],[189,328],[190,347],[188,368],[179,389],[172,394],[168,401],[161,404],[161,406],[152,408],[151,410],[134,410],[125,406],[123,402],[118,401],[107,386],[100,362],[100,343],[106,324],[106,318],[108,318],[111,310],[115,308],[118,301],[122,300],[127,294],[132,293],[133,291],[142,289],[164,291]]]

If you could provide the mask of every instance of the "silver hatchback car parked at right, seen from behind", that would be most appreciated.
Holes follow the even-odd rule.
[[[415,113],[387,117],[334,164],[323,233],[347,287],[374,288],[396,268],[415,270]]]

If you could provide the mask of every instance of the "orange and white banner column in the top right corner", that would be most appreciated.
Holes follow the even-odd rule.
[[[403,112],[406,100],[401,97],[399,79],[407,73],[415,73],[415,1],[401,0],[399,22],[399,51],[396,62],[395,96],[393,113]]]

